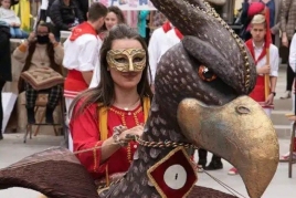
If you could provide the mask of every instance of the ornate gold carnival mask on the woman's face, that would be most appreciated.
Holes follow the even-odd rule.
[[[141,72],[146,66],[144,49],[109,50],[107,62],[119,72]]]

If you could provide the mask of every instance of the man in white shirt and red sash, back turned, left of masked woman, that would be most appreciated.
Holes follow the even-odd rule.
[[[65,106],[67,122],[71,117],[70,107],[73,100],[83,91],[87,90],[93,76],[93,71],[98,62],[98,52],[102,40],[97,31],[104,24],[107,8],[99,3],[93,3],[88,9],[88,20],[78,24],[64,42],[63,66],[67,69],[64,82]],[[68,149],[73,150],[73,140],[68,133]]]

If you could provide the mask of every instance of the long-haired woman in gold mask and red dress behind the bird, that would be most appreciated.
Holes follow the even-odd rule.
[[[107,183],[127,171],[137,143],[125,137],[142,134],[152,93],[147,46],[131,28],[113,28],[101,58],[101,83],[75,98],[70,128],[74,152],[92,149],[77,155],[81,163]]]

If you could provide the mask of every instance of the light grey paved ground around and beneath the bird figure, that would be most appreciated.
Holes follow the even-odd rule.
[[[284,69],[281,70],[281,76],[277,86],[277,98],[285,91],[284,71]],[[29,140],[27,144],[23,144],[22,137],[22,134],[6,134],[4,139],[0,140],[0,168],[3,168],[25,156],[29,156],[36,152],[41,152],[51,146],[59,146],[63,140],[63,137],[39,135],[38,137],[34,137],[33,139]],[[281,154],[286,153],[288,150],[288,139],[279,139]],[[231,165],[224,161],[224,168],[222,170],[212,171],[210,174],[226,184],[228,186],[231,186],[239,192],[243,194],[245,197],[247,197],[241,177],[228,175],[228,170],[230,168]],[[294,169],[295,171],[293,173],[293,178],[288,178],[287,164],[279,164],[273,181],[271,183],[269,187],[266,189],[262,198],[295,198],[296,165],[294,165]],[[226,191],[222,186],[220,186],[216,181],[211,179],[205,174],[199,174],[198,185]],[[27,190],[22,188],[0,190],[0,198],[36,198],[36,191]]]

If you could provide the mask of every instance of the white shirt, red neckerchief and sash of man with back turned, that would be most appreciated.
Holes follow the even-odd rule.
[[[63,65],[68,70],[64,85],[67,114],[74,97],[88,88],[82,72],[94,71],[98,63],[101,45],[102,40],[97,35],[97,31],[88,22],[77,25],[64,43]],[[68,147],[72,150],[71,136],[68,138]]]

